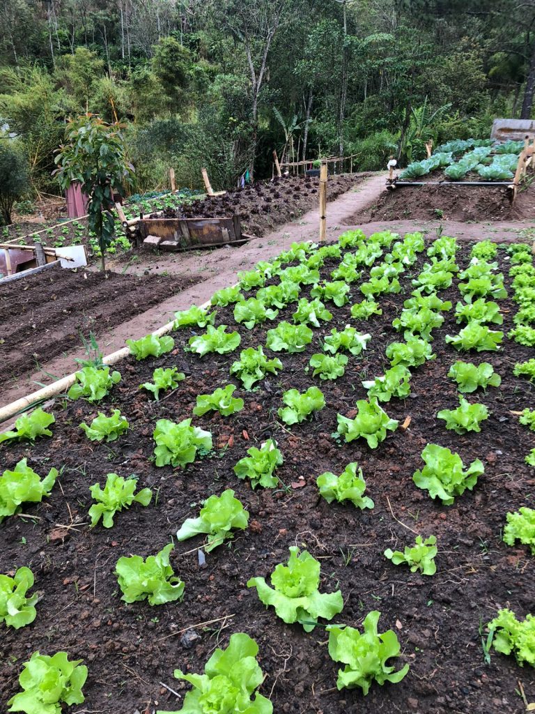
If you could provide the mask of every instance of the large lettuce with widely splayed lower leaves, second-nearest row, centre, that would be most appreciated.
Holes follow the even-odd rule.
[[[307,550],[300,553],[297,545],[290,546],[287,565],[275,566],[271,584],[265,578],[250,578],[247,587],[256,588],[260,602],[272,605],[283,622],[298,622],[305,632],[312,632],[317,618],[332,620],[344,607],[340,590],[320,593],[320,563]]]

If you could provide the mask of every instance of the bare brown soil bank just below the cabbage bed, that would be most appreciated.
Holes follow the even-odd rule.
[[[503,186],[402,187],[383,191],[362,211],[344,221],[346,226],[372,221],[437,220],[508,221],[535,218],[535,186],[519,191],[513,206]]]

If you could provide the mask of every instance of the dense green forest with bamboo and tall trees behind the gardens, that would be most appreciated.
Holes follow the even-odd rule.
[[[125,125],[138,192],[271,176],[272,149],[380,169],[529,118],[534,32],[535,0],[0,0],[0,146],[48,192],[86,111]]]

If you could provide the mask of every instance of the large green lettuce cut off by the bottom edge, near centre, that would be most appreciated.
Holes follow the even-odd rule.
[[[241,632],[230,635],[228,647],[215,650],[204,674],[175,670],[175,678],[189,682],[193,689],[185,693],[179,712],[158,710],[158,714],[272,714],[269,699],[258,693],[251,698],[265,679],[257,655],[258,645],[249,635]]]

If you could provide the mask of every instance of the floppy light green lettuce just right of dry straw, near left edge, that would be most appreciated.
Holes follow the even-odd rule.
[[[138,485],[137,478],[123,478],[116,473],[108,473],[106,476],[106,486],[101,488],[100,483],[93,483],[90,486],[93,506],[89,509],[91,518],[91,528],[94,528],[102,518],[104,528],[113,526],[113,516],[123,508],[130,508],[132,503],[141,503],[148,506],[151,503],[153,492],[150,488],[142,488],[136,493]]]

